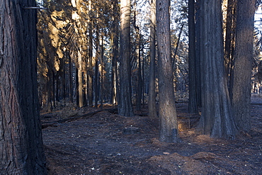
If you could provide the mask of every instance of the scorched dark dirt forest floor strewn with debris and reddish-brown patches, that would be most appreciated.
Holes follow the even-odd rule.
[[[262,104],[261,96],[252,101]],[[132,118],[86,107],[42,111],[49,173],[262,174],[262,105],[251,106],[252,129],[236,140],[195,133],[199,116],[188,114],[187,107],[176,103],[180,143],[159,142],[159,119],[150,118],[146,108]]]

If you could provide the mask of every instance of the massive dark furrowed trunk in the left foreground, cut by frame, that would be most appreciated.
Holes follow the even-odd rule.
[[[34,0],[0,1],[0,172],[47,174],[36,72]]]

